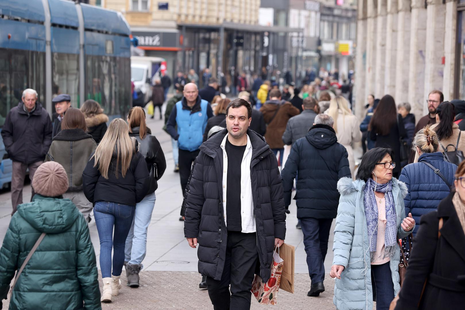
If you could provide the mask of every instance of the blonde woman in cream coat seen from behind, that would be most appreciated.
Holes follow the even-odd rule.
[[[353,143],[362,140],[362,132],[360,131],[360,122],[352,111],[349,109],[347,100],[342,96],[337,96],[330,101],[329,109],[325,112],[334,119],[334,131],[338,142],[345,146],[349,155],[349,166],[354,177],[355,158],[353,155]]]

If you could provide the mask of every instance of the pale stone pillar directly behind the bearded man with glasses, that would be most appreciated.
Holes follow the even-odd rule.
[[[427,0],[426,7],[426,54],[425,54],[425,89],[423,97],[423,113],[428,113],[426,99],[434,90],[443,90],[444,65],[444,33],[445,33],[445,4],[442,0]]]

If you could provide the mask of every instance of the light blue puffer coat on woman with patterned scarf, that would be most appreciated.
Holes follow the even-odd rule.
[[[334,229],[333,265],[344,266],[341,278],[336,279],[333,302],[338,310],[371,310],[373,289],[370,262],[370,238],[367,233],[363,190],[365,181],[341,178],[338,182],[338,215]],[[407,186],[392,178],[392,196],[396,211],[397,236],[404,238],[410,231],[404,231],[400,223],[405,218],[404,198]],[[399,247],[390,257],[394,295],[399,293]]]

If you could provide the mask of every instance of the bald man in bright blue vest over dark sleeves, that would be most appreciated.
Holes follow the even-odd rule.
[[[183,94],[184,97],[173,107],[166,123],[166,131],[173,139],[178,140],[179,144],[179,178],[182,194],[186,190],[192,163],[199,155],[206,122],[213,116],[210,104],[200,98],[197,85],[187,83]]]

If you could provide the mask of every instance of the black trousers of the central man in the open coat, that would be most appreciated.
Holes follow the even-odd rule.
[[[225,268],[221,280],[206,278],[208,295],[214,310],[250,310],[250,290],[258,258],[255,232],[228,231]]]

